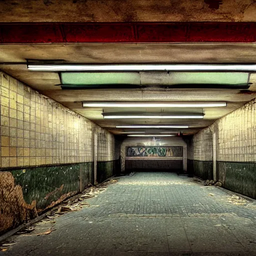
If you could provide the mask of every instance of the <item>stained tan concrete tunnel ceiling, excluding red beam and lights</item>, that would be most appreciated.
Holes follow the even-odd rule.
[[[77,21],[255,21],[255,1],[173,0],[116,1],[43,0],[0,2],[0,22],[77,22]],[[15,4],[14,4],[15,3]],[[75,11],[70,11],[70,4]],[[40,11],[38,11],[40,9]],[[112,14],[111,14],[112,13]],[[33,15],[34,14],[34,15]],[[64,63],[254,63],[256,43],[0,43],[0,69],[42,94],[92,120],[114,134],[153,129],[115,128],[120,124],[187,124],[184,134],[209,126],[256,97],[256,74],[250,73],[249,89],[173,88],[172,73],[138,72],[139,81],[131,88],[61,89],[57,72],[27,70],[26,59],[59,60]],[[228,76],[228,74],[227,74]],[[123,77],[126,77],[125,75]],[[167,78],[166,78],[167,77]],[[188,75],[187,75],[188,77]],[[229,75],[231,78],[231,75]],[[94,78],[93,78],[94,79]],[[92,79],[92,80],[93,80]],[[135,78],[134,78],[135,79]],[[189,78],[190,79],[190,78]],[[228,78],[227,78],[228,79]],[[132,79],[131,79],[132,80]],[[129,83],[130,81],[129,80]],[[133,81],[133,80],[132,80]],[[92,82],[93,83],[93,82]],[[102,81],[104,83],[104,81]],[[141,87],[140,85],[147,86]],[[188,82],[189,83],[189,82]],[[159,86],[165,85],[165,86]],[[170,86],[166,86],[170,85]],[[100,87],[100,86],[99,86]],[[177,108],[82,107],[82,101],[226,101],[226,107],[207,107],[203,119],[103,119],[102,112],[175,113]],[[191,112],[192,109],[183,109]],[[165,129],[180,131],[180,129]]]

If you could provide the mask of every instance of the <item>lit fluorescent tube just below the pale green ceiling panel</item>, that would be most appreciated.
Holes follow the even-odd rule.
[[[218,107],[226,102],[82,102],[83,107]]]

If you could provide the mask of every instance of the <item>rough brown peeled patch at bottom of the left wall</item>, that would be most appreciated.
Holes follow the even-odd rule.
[[[0,172],[0,234],[37,217],[36,201],[24,201],[22,188],[10,172]]]

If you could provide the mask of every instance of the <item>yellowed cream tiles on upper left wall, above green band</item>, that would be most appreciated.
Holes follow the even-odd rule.
[[[86,118],[0,72],[0,167],[114,160],[114,137]]]

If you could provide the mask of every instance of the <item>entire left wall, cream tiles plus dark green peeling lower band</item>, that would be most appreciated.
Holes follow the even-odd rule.
[[[94,136],[97,165],[94,164]],[[118,171],[114,136],[0,72],[0,234]]]

